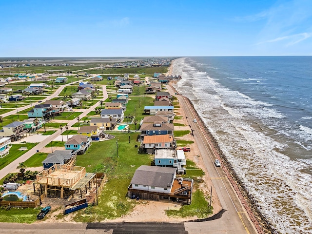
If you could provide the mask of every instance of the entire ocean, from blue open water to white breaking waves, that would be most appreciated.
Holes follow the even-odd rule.
[[[312,57],[179,58],[172,74],[272,227],[312,233]]]

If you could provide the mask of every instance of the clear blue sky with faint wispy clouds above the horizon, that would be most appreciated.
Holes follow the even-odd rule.
[[[0,57],[312,55],[312,0],[2,0]]]

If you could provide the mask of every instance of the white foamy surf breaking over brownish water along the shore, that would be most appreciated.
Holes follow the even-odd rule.
[[[177,90],[194,100],[198,114],[259,202],[262,213],[280,233],[311,233],[312,176],[302,171],[311,168],[312,156],[292,159],[280,152],[288,150],[283,137],[307,139],[312,129],[300,124],[293,128],[285,120],[287,115],[271,104],[223,87],[205,72],[190,68],[185,59],[179,66],[187,72]],[[252,123],[256,121],[259,129],[266,131],[254,129]],[[266,135],[273,128],[276,133]],[[311,150],[309,145],[298,144]]]

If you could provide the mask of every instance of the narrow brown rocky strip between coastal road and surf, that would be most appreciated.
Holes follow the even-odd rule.
[[[173,60],[174,61],[174,60]],[[172,61],[172,62],[173,62]],[[167,75],[171,76],[173,68],[172,68],[172,63],[170,67],[168,68],[168,73]],[[180,75],[180,74],[175,74],[175,75]],[[183,77],[182,77],[183,78]],[[236,193],[237,197],[239,198],[242,206],[244,209],[247,211],[250,220],[253,222],[256,230],[258,233],[277,233],[273,228],[272,225],[268,222],[268,220],[262,215],[261,211],[259,210],[259,206],[257,205],[254,197],[249,194],[248,188],[246,188],[245,184],[241,181],[239,176],[235,173],[231,163],[227,160],[226,156],[220,149],[217,140],[213,135],[210,133],[208,130],[207,126],[204,124],[203,120],[201,117],[198,115],[197,111],[195,110],[195,107],[192,103],[192,101],[189,98],[186,98],[183,95],[180,95],[179,92],[176,90],[174,85],[178,81],[170,81],[169,85],[170,87],[174,90],[174,92],[179,95],[180,97],[183,97],[185,101],[187,102],[190,110],[192,111],[193,115],[197,119],[198,125],[200,126],[200,129],[204,136],[206,137],[207,141],[209,142],[211,149],[213,150],[215,156],[218,157],[219,160],[221,160],[222,164],[225,166],[223,167],[223,170],[229,179],[234,192]],[[183,109],[186,107],[181,106]],[[195,142],[196,144],[196,142]]]

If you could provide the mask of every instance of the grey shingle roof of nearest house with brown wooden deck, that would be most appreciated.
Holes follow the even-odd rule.
[[[171,187],[175,174],[176,168],[143,165],[137,168],[131,184],[168,188]]]

